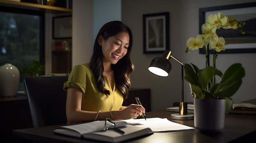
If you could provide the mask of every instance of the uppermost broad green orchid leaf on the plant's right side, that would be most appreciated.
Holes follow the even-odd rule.
[[[245,77],[245,68],[242,67],[242,64],[232,64],[224,73],[220,84],[236,81],[237,79],[242,79],[243,77]]]

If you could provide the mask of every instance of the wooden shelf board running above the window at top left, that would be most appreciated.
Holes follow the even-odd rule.
[[[71,13],[72,12],[72,9],[66,9],[63,7],[54,7],[54,6],[34,4],[29,2],[16,2],[11,0],[0,0],[0,6],[15,7],[20,9],[31,9],[31,10],[51,12],[51,13],[60,13],[60,12]]]

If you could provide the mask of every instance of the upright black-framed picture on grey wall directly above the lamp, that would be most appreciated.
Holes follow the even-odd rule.
[[[169,13],[143,15],[144,54],[163,53],[169,49]]]

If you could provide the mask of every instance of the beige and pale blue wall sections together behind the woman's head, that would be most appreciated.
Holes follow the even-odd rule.
[[[90,62],[101,26],[121,20],[120,0],[74,0],[72,9],[72,66]]]

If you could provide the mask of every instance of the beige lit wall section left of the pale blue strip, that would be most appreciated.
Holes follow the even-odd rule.
[[[93,0],[73,0],[72,66],[90,60],[93,35]]]

